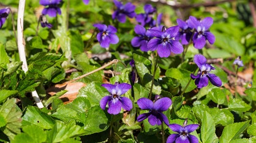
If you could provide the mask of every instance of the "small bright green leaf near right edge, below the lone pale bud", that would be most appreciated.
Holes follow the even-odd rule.
[[[241,99],[230,99],[230,102],[228,102],[228,109],[232,111],[246,112],[250,110],[250,108],[252,108],[252,106]]]

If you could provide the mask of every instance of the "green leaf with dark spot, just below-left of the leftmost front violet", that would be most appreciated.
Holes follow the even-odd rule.
[[[97,114],[95,114],[97,113]],[[85,133],[93,134],[107,130],[110,126],[110,117],[100,106],[93,106],[89,111],[85,120]]]

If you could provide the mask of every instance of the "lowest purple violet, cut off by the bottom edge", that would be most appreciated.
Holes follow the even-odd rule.
[[[187,119],[184,121],[183,126],[179,125],[179,124],[170,124],[168,125],[169,128],[171,128],[171,130],[177,132],[178,134],[171,134],[168,138],[167,138],[167,143],[198,143],[198,139],[197,137],[195,137],[194,135],[191,135],[189,133],[192,133],[193,131],[197,130],[197,128],[199,127],[198,124],[190,124],[190,125],[186,125],[187,124]]]

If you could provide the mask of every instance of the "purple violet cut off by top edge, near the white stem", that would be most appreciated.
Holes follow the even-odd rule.
[[[61,15],[61,9],[59,9],[59,4],[61,4],[62,0],[40,0],[40,4],[47,6],[43,9],[43,15],[49,15],[51,17],[56,17],[57,13]]]

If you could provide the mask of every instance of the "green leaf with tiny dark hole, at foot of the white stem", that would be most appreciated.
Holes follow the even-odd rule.
[[[37,125],[44,129],[51,129],[55,121],[46,113],[43,113],[35,106],[28,106],[26,113],[22,117],[22,125]]]

